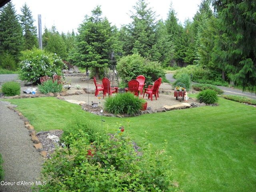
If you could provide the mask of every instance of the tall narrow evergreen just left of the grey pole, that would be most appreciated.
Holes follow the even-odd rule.
[[[34,46],[38,47],[38,38],[36,26],[34,26],[34,19],[32,17],[32,12],[25,3],[20,9],[22,14],[20,15],[20,22],[22,26],[25,46],[24,50],[31,50]]]

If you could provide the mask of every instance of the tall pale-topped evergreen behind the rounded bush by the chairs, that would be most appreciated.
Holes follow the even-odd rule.
[[[122,26],[120,30],[123,51],[126,55],[138,53],[145,58],[159,61],[162,52],[157,46],[162,46],[162,43],[158,42],[159,34],[156,36],[159,21],[155,22],[155,12],[148,8],[144,0],[138,0],[133,8],[136,12],[130,16],[132,23]]]

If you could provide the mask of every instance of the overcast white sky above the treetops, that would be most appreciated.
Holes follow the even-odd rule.
[[[38,26],[38,14],[42,18],[42,32],[44,27],[50,29],[56,26],[58,32],[67,33],[77,32],[79,24],[83,23],[84,16],[91,15],[91,11],[97,5],[101,6],[102,16],[106,16],[112,25],[116,24],[120,28],[123,24],[129,24],[130,11],[135,12],[132,6],[136,5],[137,0],[11,0],[15,5],[17,14],[20,8],[28,5],[32,12],[35,26]],[[156,12],[158,19],[166,20],[172,2],[172,8],[177,13],[179,22],[183,23],[186,19],[192,20],[198,10],[201,0],[146,0],[148,8]]]

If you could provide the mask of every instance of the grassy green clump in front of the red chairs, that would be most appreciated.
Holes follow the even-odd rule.
[[[130,116],[142,109],[143,100],[134,96],[133,93],[116,94],[116,96],[106,98],[104,110],[109,113],[129,114]]]

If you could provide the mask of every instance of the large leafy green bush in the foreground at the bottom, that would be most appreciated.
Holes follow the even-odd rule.
[[[98,133],[98,138],[101,134]],[[55,191],[178,191],[172,180],[170,157],[165,150],[152,152],[150,145],[138,156],[132,141],[122,134],[88,144],[83,135],[72,146],[55,150],[42,169],[46,185],[39,192]]]

